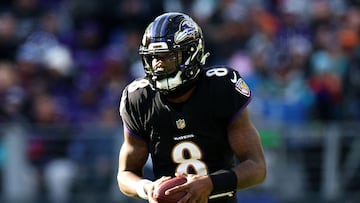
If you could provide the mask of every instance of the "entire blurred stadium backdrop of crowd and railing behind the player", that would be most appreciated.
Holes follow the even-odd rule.
[[[253,91],[269,174],[239,202],[360,202],[357,0],[2,0],[0,202],[141,202],[117,189],[117,109],[164,11]]]

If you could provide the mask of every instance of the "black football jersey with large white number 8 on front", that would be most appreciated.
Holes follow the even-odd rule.
[[[168,102],[145,78],[123,91],[120,114],[128,132],[148,143],[156,178],[178,173],[206,175],[233,167],[227,127],[250,101],[234,69],[204,69],[192,96]]]

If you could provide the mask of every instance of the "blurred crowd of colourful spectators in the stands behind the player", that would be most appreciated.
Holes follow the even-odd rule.
[[[113,143],[94,147],[83,138],[101,134],[88,129],[94,123],[121,125],[122,89],[144,75],[143,31],[166,11],[199,23],[209,65],[239,70],[258,117],[292,124],[360,119],[357,0],[2,0],[0,124],[36,126],[28,156],[39,170],[57,157],[96,155],[97,174],[114,170],[104,158],[113,159],[106,151]]]

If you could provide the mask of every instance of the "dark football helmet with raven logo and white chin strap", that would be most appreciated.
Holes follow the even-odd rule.
[[[140,56],[151,86],[165,95],[181,95],[192,87],[209,53],[204,53],[201,28],[188,15],[169,12],[145,30]],[[154,58],[167,60],[156,68]]]

